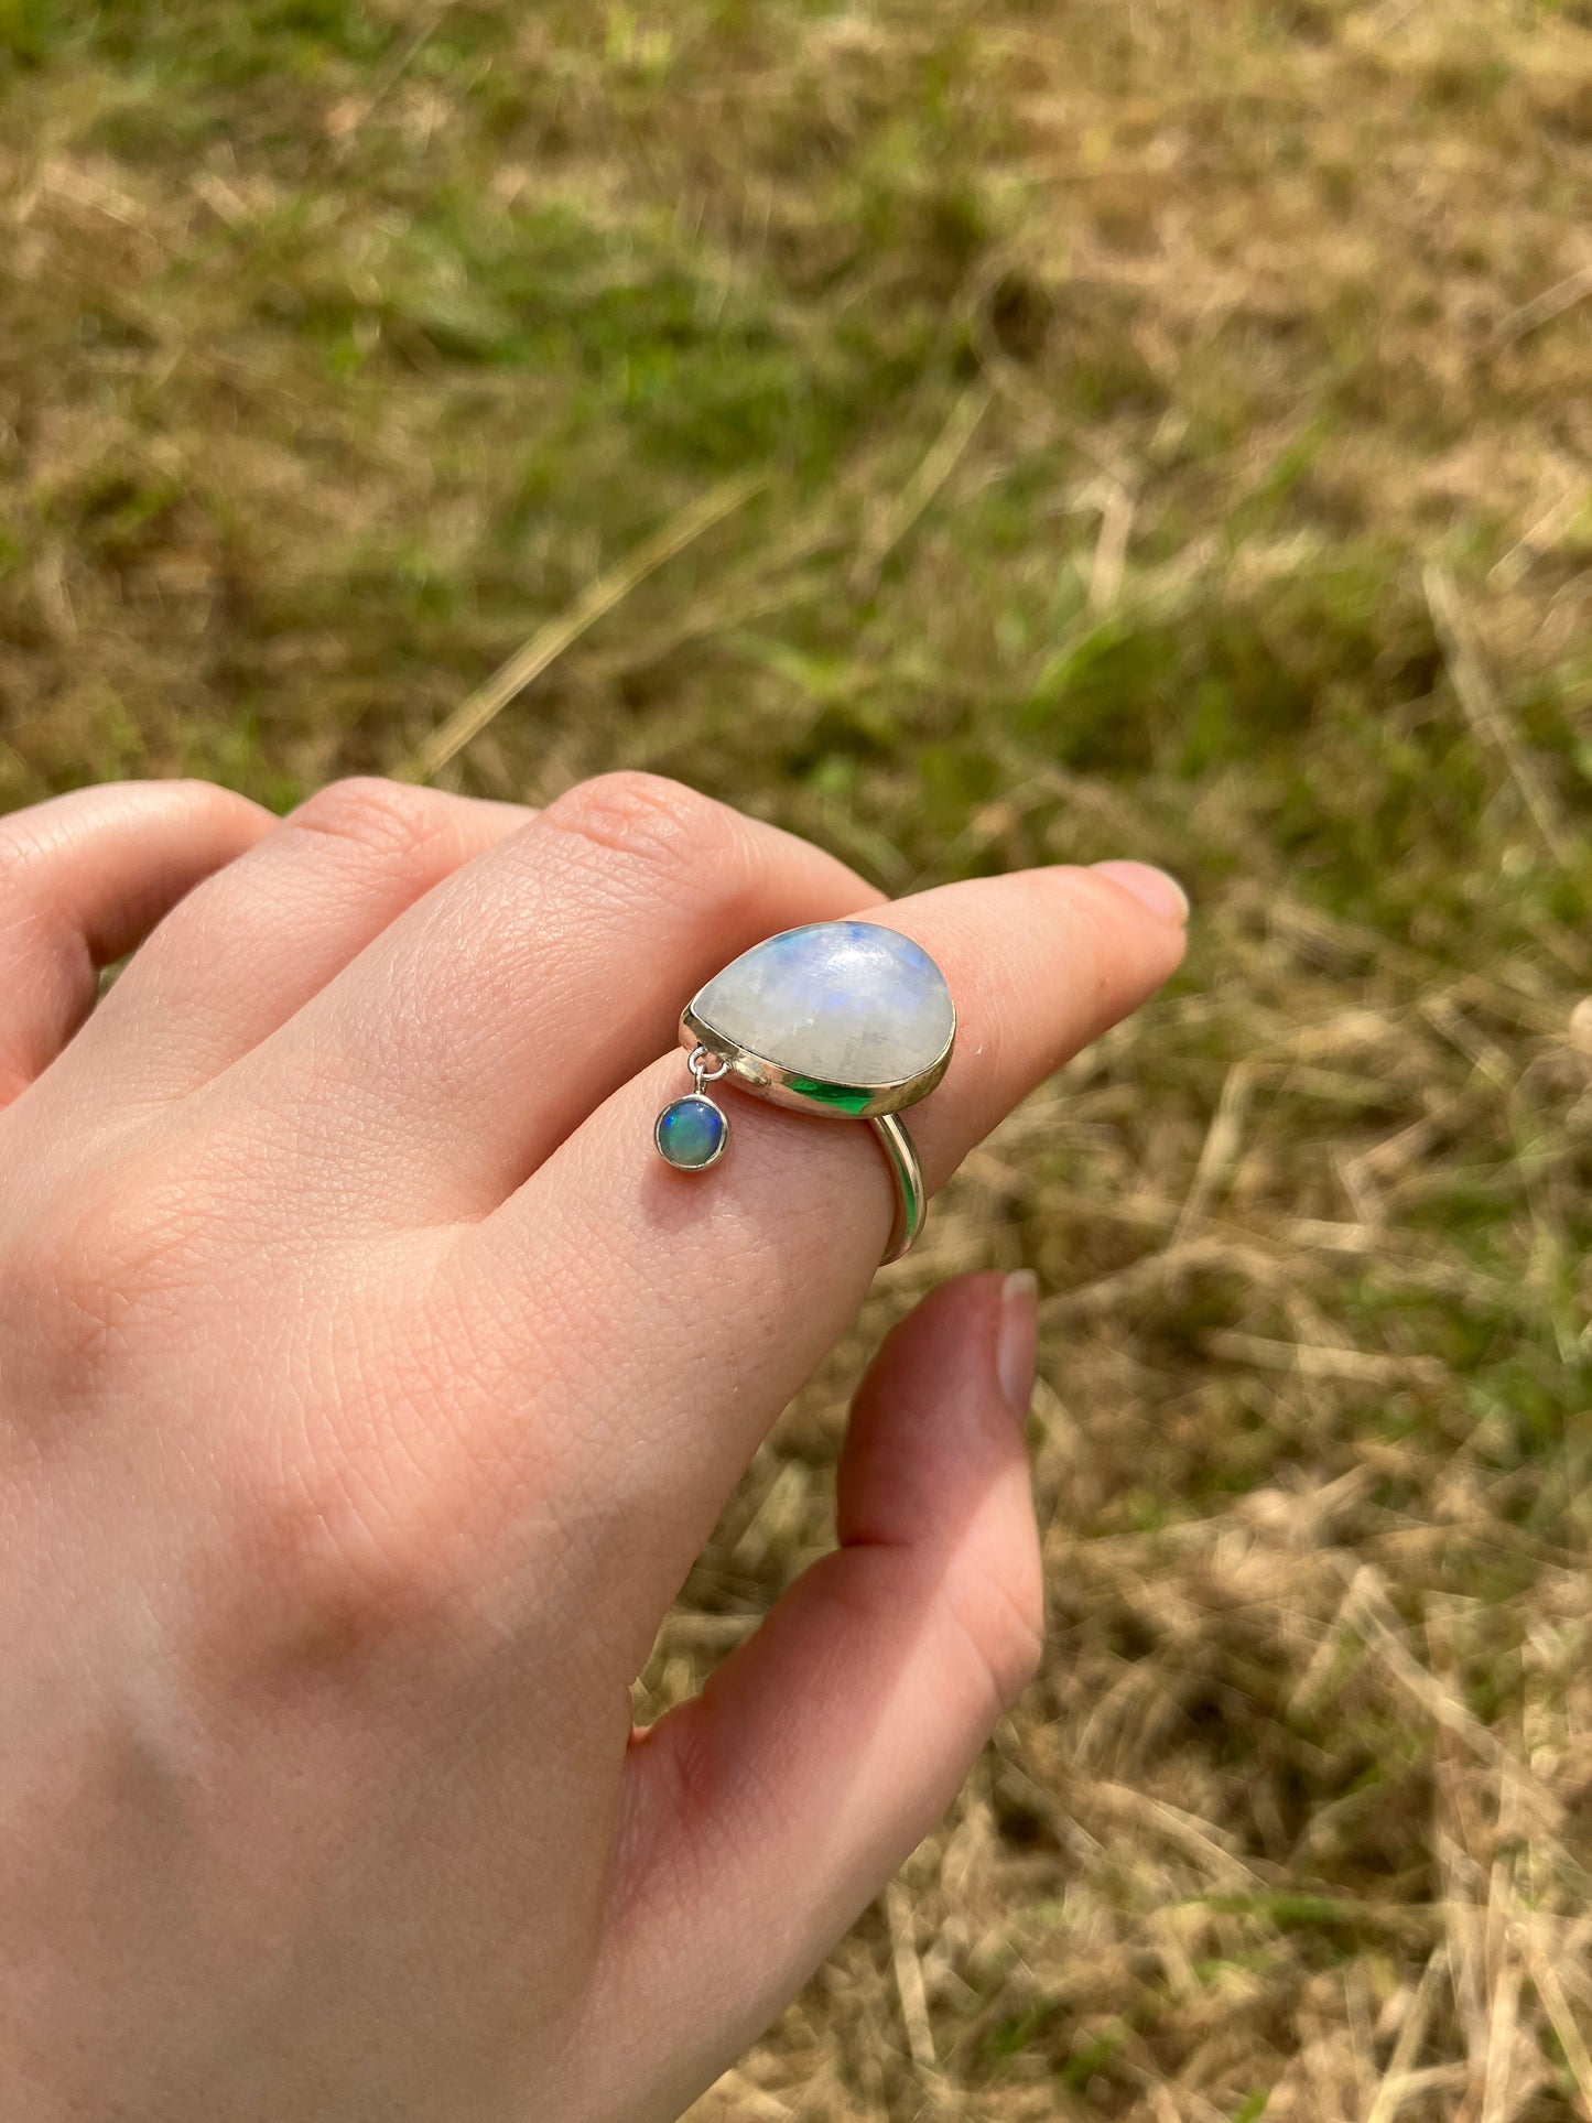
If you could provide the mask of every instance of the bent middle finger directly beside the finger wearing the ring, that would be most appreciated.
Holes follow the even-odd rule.
[[[212,1091],[314,1144],[299,1187],[352,1221],[473,1221],[673,1042],[681,981],[877,898],[794,834],[603,775],[435,887]]]

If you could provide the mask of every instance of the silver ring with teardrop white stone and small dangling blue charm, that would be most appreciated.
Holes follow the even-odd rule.
[[[923,1229],[923,1168],[906,1123],[945,1076],[957,1013],[928,951],[877,921],[813,921],[754,945],[700,987],[679,1017],[692,1089],[654,1125],[658,1155],[707,1172],[730,1119],[705,1085],[722,1076],[773,1106],[868,1121],[896,1189],[885,1261]]]

